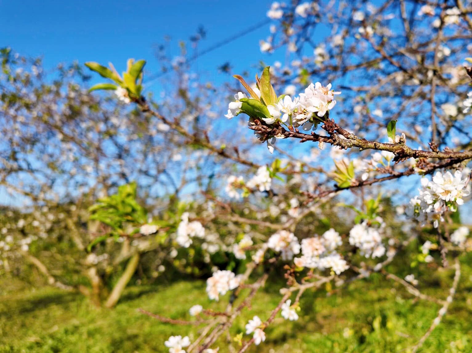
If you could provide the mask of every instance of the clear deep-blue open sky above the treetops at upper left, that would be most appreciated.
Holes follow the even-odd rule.
[[[200,50],[259,23],[271,1],[248,3],[227,0],[172,1],[12,1],[0,0],[0,47],[21,55],[42,56],[46,68],[59,62],[112,61],[118,71],[128,57],[148,60],[148,73],[159,69],[154,45],[172,37],[188,40],[199,25],[207,31]],[[198,59],[198,67],[212,71],[230,61],[246,69],[263,58],[258,40],[267,37],[269,24]],[[215,72],[215,75],[218,75]],[[209,77],[218,80],[219,77]]]

